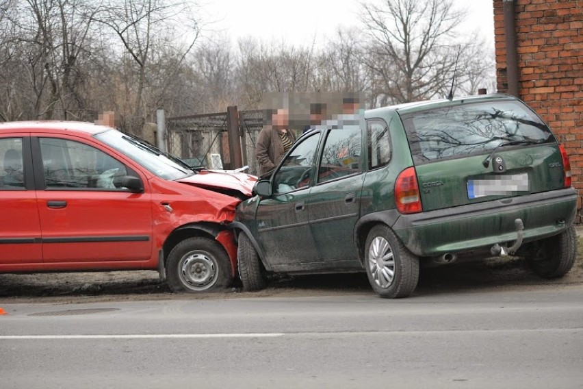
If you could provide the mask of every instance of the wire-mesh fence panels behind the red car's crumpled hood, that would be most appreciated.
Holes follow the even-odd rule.
[[[229,145],[233,139],[229,134],[238,134],[234,144],[241,148],[243,165],[249,166],[248,173],[257,174],[255,143],[261,127],[261,110],[236,111],[237,122],[231,124],[227,112],[179,116],[166,119],[166,147],[168,152],[192,166],[215,169],[236,168],[235,158],[231,158]],[[229,125],[236,127],[229,131]]]

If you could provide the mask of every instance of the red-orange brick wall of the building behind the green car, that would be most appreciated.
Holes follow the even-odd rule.
[[[493,0],[498,92],[508,90],[503,1]],[[583,194],[583,0],[515,0],[519,97],[550,125]]]

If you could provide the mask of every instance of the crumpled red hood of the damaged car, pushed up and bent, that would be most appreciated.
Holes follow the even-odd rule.
[[[200,171],[183,179],[177,179],[183,184],[191,184],[200,188],[224,188],[238,190],[245,196],[250,197],[253,185],[257,181],[255,175],[240,173],[235,171]]]

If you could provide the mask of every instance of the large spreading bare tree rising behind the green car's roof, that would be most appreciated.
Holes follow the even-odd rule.
[[[381,3],[363,4],[361,19],[373,54],[365,63],[393,103],[434,97],[451,79],[460,50],[454,28],[463,13],[454,10],[452,0]]]

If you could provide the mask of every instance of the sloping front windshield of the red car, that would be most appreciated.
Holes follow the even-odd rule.
[[[181,179],[194,174],[187,166],[177,163],[174,158],[161,153],[155,147],[151,147],[143,141],[122,134],[115,129],[96,134],[95,138],[124,153],[158,177],[164,179]]]

